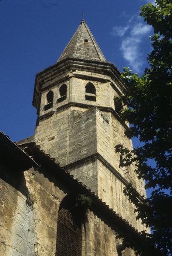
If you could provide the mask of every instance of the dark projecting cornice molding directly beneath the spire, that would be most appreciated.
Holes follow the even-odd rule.
[[[79,58],[66,58],[65,60],[62,60],[48,67],[40,73],[37,73],[35,78],[33,97],[34,107],[38,108],[40,98],[39,95],[42,90],[43,84],[50,83],[48,84],[48,86],[51,86],[51,81],[52,79],[54,79],[54,77],[60,77],[64,75],[65,77],[70,77],[72,75],[72,72],[75,72],[76,70],[87,70],[93,73],[110,76],[110,78],[112,79],[111,81],[114,81],[117,84],[117,87],[120,88],[122,93],[125,93],[126,91],[126,88],[124,87],[124,84],[121,80],[121,73],[113,63],[104,61],[83,60]],[[68,72],[70,75],[66,75],[66,72]]]

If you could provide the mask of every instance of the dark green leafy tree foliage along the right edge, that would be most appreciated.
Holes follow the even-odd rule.
[[[120,100],[127,105],[121,118],[131,124],[125,135],[137,137],[141,146],[130,151],[117,145],[116,151],[123,156],[122,166],[133,164],[138,178],[146,181],[147,189],[153,189],[143,201],[131,185],[124,193],[135,204],[138,218],[151,227],[147,239],[166,256],[172,255],[172,1],[148,3],[141,7],[140,15],[155,33],[147,57],[149,68],[141,77],[124,68],[127,93]],[[143,251],[137,249],[146,255]]]

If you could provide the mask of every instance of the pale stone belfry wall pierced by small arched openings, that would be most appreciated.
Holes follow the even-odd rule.
[[[93,73],[90,73],[90,75],[93,76]],[[107,76],[102,76],[102,78],[107,79]],[[91,82],[96,88],[96,102],[85,99],[85,86],[88,82]],[[62,102],[57,102],[57,99],[60,97],[59,88],[62,84],[67,85],[67,98]],[[54,93],[53,107],[45,111],[44,106],[47,104],[46,96],[50,90],[52,90]],[[54,82],[54,85],[52,85],[49,89],[42,90],[39,116],[52,110],[55,111],[56,108],[61,107],[68,102],[104,106],[114,109],[114,96],[117,96],[117,93],[113,87],[111,87],[110,82],[92,81],[88,79],[69,77],[65,81]]]

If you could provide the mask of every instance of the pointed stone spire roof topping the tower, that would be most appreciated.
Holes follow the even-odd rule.
[[[82,20],[57,62],[65,58],[106,61],[85,20]]]

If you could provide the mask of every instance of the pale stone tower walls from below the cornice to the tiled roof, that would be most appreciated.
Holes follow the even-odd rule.
[[[87,82],[75,77],[66,82],[67,99],[56,103],[54,98],[55,113],[40,119],[34,139],[111,208],[139,231],[143,230],[145,227],[140,221],[136,221],[133,205],[122,192],[125,183],[118,180],[113,172],[114,169],[124,180],[131,182],[141,195],[145,195],[143,181],[138,180],[131,167],[119,168],[120,157],[115,153],[115,145],[120,143],[132,148],[132,143],[124,136],[126,127],[116,116],[109,111],[99,110],[99,106],[114,109],[113,97],[116,96],[116,91],[109,82],[91,81],[96,88],[96,101],[89,101],[85,99]],[[59,86],[52,88],[54,95],[58,95]],[[46,93],[47,91],[42,93],[42,106],[45,104]],[[65,105],[70,102],[75,102],[76,106]],[[77,104],[85,104],[85,107]],[[63,105],[64,108],[58,110]],[[87,109],[87,105],[93,107]],[[112,168],[109,169],[95,158],[95,154],[102,156]]]

